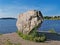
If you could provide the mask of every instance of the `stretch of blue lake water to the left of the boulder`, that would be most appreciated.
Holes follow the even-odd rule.
[[[0,20],[0,33],[16,32],[16,20],[15,19],[1,19]]]

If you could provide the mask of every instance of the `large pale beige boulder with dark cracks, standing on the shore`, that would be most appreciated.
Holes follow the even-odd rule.
[[[41,25],[43,16],[40,11],[31,10],[18,16],[16,26],[18,31],[29,34],[35,26]]]

